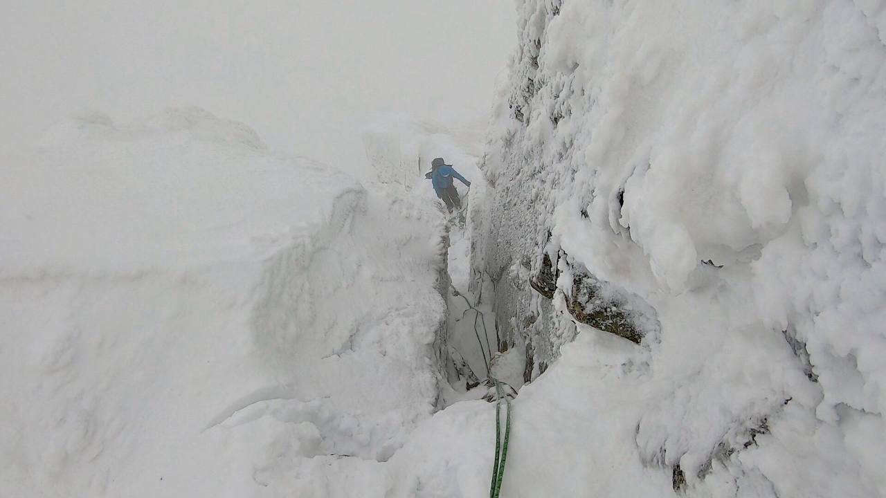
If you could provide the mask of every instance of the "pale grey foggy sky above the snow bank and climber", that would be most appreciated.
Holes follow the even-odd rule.
[[[516,44],[514,0],[3,3],[0,150],[83,108],[199,105],[354,171],[380,113],[484,115]]]

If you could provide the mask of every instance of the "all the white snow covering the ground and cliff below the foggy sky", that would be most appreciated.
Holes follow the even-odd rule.
[[[886,496],[886,2],[517,13],[488,127],[299,137],[363,183],[198,108],[4,159],[0,494],[484,495],[491,356],[503,496]],[[583,273],[640,345],[572,319]]]

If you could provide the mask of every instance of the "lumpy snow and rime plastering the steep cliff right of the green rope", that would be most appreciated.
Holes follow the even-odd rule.
[[[886,2],[529,0],[519,25],[475,253],[502,331],[536,364],[575,337],[526,284],[560,250],[561,290],[587,271],[661,330],[579,327],[517,398],[506,494],[886,495]]]

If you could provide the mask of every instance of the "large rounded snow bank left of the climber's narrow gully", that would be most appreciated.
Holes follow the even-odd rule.
[[[197,109],[61,122],[0,185],[4,495],[291,495],[439,404],[422,202]]]

